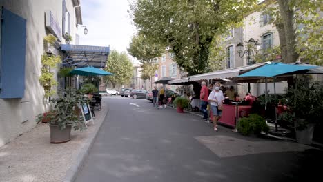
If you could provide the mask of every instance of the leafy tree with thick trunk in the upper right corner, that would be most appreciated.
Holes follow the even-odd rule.
[[[310,63],[322,65],[321,0],[277,0],[269,1],[276,6],[265,7],[264,13],[271,15],[271,23],[280,36],[282,59],[293,63],[304,58]]]

